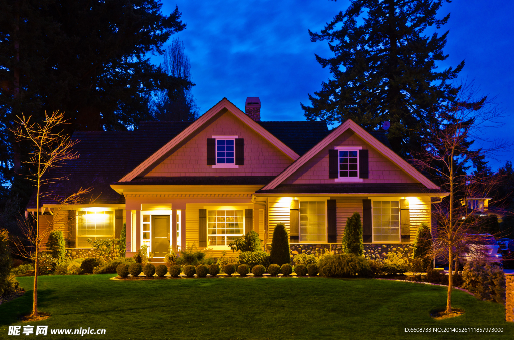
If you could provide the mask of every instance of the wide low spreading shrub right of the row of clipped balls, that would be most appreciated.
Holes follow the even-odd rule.
[[[368,260],[354,254],[327,255],[318,262],[323,277],[367,276],[371,272]]]

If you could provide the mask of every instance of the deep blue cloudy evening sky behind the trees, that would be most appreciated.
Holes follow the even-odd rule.
[[[332,56],[326,41],[312,43],[307,29],[321,30],[348,1],[216,1],[164,0],[163,13],[178,5],[187,28],[175,36],[185,43],[191,60],[193,95],[206,112],[223,97],[244,110],[247,97],[261,100],[262,120],[304,120],[300,102],[310,104],[307,93],[321,88],[329,78],[327,69],[316,62],[314,53]],[[514,90],[511,67],[514,52],[512,13],[514,2],[494,5],[480,0],[453,0],[439,10],[451,12],[445,52],[449,58],[441,67],[455,67],[462,60],[461,75],[473,80],[482,95],[496,97],[504,110],[506,125],[495,135],[514,131]],[[172,36],[173,38],[174,36]],[[155,63],[162,58],[153,57]],[[510,140],[514,140],[508,134]],[[512,153],[493,168],[512,160]]]

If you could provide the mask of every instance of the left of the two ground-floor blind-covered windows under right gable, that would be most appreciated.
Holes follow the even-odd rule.
[[[300,242],[326,242],[324,201],[300,201]]]

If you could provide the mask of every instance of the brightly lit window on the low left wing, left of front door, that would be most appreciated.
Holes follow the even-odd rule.
[[[92,247],[87,239],[114,238],[114,211],[81,211],[77,216],[77,247]]]

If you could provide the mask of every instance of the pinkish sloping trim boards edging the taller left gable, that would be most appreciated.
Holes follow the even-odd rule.
[[[150,157],[146,158],[143,162],[141,162],[138,166],[136,166],[131,172],[123,176],[119,181],[126,182],[131,181],[137,176],[140,176],[146,169],[150,168],[157,162],[159,162],[162,158],[166,157],[168,153],[177,146],[181,141],[186,139],[189,135],[191,135],[196,129],[200,128],[204,124],[206,124],[211,118],[213,118],[216,114],[221,112],[223,109],[227,109],[230,111],[235,117],[240,119],[243,123],[253,129],[256,133],[261,135],[264,139],[266,139],[271,145],[275,146],[280,150],[284,155],[289,157],[291,160],[296,161],[300,156],[291,150],[288,146],[286,146],[283,142],[281,142],[277,137],[270,134],[264,127],[259,125],[253,119],[248,117],[243,111],[238,109],[234,104],[232,104],[227,98],[223,98],[220,102],[214,105],[209,111],[207,111],[204,115],[194,121],[191,125],[185,128],[181,133],[179,133],[176,137],[174,137],[171,141],[166,143],[164,146],[159,148],[154,154]]]

